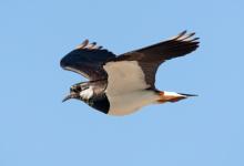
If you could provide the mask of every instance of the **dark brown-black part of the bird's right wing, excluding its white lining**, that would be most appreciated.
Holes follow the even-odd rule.
[[[194,34],[183,31],[167,41],[124,53],[113,61],[138,61],[145,73],[146,83],[154,87],[155,73],[161,63],[196,50],[200,42],[199,38],[193,38]]]

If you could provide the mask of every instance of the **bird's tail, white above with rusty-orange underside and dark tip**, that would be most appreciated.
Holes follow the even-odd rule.
[[[197,95],[162,91],[162,92],[159,92],[159,96],[160,98],[157,100],[157,102],[165,103],[165,102],[179,102],[181,100],[184,100],[191,96],[197,96]]]

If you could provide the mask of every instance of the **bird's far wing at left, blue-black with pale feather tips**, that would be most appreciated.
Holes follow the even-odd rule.
[[[64,70],[79,73],[91,81],[102,80],[108,76],[102,64],[112,58],[115,58],[112,52],[85,40],[75,50],[68,53],[60,61],[60,65]]]

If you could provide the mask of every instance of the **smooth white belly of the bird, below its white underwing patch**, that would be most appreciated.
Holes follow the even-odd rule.
[[[140,90],[131,93],[122,93],[109,97],[110,115],[131,114],[142,106],[156,103],[159,95],[153,91]]]

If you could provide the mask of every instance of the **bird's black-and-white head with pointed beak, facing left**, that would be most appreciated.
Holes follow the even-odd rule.
[[[90,93],[90,94],[89,94]],[[62,102],[65,102],[70,98],[75,98],[87,102],[91,97],[92,90],[90,90],[88,83],[78,83],[70,87],[70,94],[67,95]]]

